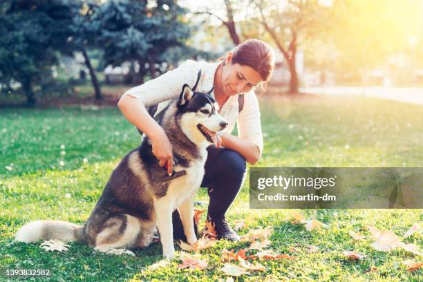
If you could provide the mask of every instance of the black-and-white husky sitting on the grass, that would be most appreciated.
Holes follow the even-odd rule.
[[[187,241],[195,243],[194,196],[204,176],[206,148],[213,142],[207,131],[227,126],[215,104],[209,93],[194,92],[185,84],[179,99],[164,109],[160,126],[173,145],[177,160],[173,169],[185,170],[184,176],[162,182],[167,170],[158,165],[146,137],[111,173],[84,226],[58,220],[35,221],[21,227],[16,240],[82,241],[100,252],[122,251],[149,245],[157,227],[163,255],[171,258],[175,252],[172,212],[178,209]]]

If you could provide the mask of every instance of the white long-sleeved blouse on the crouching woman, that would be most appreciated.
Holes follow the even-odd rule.
[[[178,68],[175,68],[160,77],[151,79],[148,82],[135,86],[122,95],[130,95],[138,98],[149,107],[158,105],[160,113],[171,100],[179,97],[182,86],[188,84],[194,87],[197,80],[198,71],[201,69],[201,77],[196,91],[208,92],[213,87],[214,74],[219,63],[195,62],[187,60]],[[214,92],[212,92],[214,97]],[[229,99],[223,104],[219,113],[229,123],[224,130],[232,133],[237,124],[238,137],[252,141],[259,147],[260,153],[263,151],[263,134],[261,133],[259,102],[253,90],[244,93],[243,110],[238,113],[238,95],[229,96]]]

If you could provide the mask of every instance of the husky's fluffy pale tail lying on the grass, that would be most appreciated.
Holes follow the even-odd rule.
[[[83,241],[84,226],[60,220],[39,220],[23,225],[15,236],[16,241],[35,243],[39,240]]]

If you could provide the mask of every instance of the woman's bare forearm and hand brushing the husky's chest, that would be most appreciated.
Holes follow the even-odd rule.
[[[151,118],[138,98],[125,95],[118,102],[118,107],[131,124],[137,126],[150,138],[153,155],[158,158],[161,167],[167,163],[167,173],[170,175],[173,171],[172,145],[162,127]]]

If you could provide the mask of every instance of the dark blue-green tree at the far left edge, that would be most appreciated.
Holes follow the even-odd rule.
[[[67,0],[8,0],[0,3],[1,84],[19,82],[28,104],[35,86],[51,77],[56,50],[66,45],[79,3]]]

